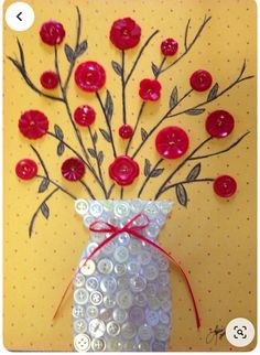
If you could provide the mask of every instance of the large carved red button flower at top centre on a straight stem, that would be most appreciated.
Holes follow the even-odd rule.
[[[119,50],[129,50],[138,45],[141,28],[130,18],[113,22],[110,30],[110,41]]]

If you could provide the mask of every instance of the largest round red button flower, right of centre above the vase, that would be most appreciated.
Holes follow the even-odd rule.
[[[177,159],[188,149],[188,136],[180,127],[165,127],[158,133],[155,147],[163,158]]]

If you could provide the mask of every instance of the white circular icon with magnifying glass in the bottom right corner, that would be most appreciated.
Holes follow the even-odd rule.
[[[247,346],[251,344],[254,338],[254,326],[246,318],[236,318],[228,323],[226,327],[226,337],[234,346]]]

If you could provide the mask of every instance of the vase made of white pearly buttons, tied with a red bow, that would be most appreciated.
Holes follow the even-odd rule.
[[[169,261],[136,236],[158,245],[172,203],[78,200],[75,207],[91,230],[74,278],[75,351],[166,351],[172,309]],[[129,230],[120,230],[126,225]]]

